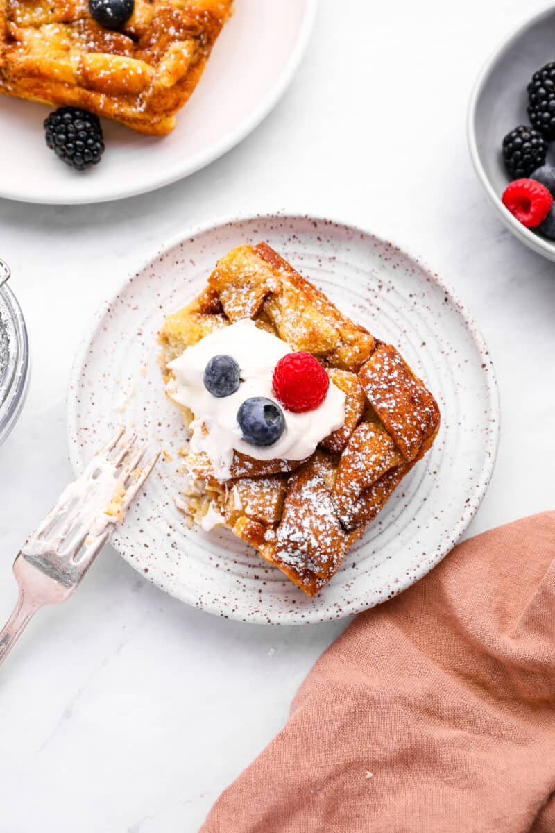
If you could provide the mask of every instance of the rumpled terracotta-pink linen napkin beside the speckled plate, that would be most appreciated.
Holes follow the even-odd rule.
[[[555,833],[555,512],[357,616],[202,833]]]

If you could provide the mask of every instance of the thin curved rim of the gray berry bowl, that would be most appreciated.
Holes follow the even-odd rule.
[[[479,181],[483,185],[483,190],[487,193],[490,201],[493,202],[493,207],[498,212],[499,217],[501,217],[503,223],[506,227],[508,227],[509,231],[513,232],[515,237],[518,237],[518,239],[528,246],[528,248],[531,248],[533,252],[536,252],[543,257],[547,257],[548,260],[551,261],[555,261],[555,243],[550,243],[543,237],[539,237],[537,234],[534,234],[534,232],[531,232],[529,228],[523,226],[522,222],[518,222],[517,218],[513,217],[513,214],[511,214],[508,208],[503,205],[501,197],[499,197],[498,193],[493,188],[493,185],[489,182],[488,174],[485,172],[482,160],[480,159],[480,154],[478,152],[478,141],[476,139],[476,111],[478,107],[478,99],[483,92],[483,87],[485,87],[488,82],[488,77],[495,64],[499,61],[503,54],[508,52],[508,50],[513,47],[513,44],[517,42],[520,37],[522,37],[523,32],[536,23],[541,22],[544,17],[549,17],[554,13],[555,8],[553,5],[548,6],[547,8],[544,8],[543,11],[537,12],[533,17],[527,17],[526,20],[519,23],[518,27],[514,28],[508,36],[503,37],[503,40],[498,44],[488,57],[488,60],[483,64],[483,67],[474,82],[473,90],[468,101],[467,112],[468,150],[470,152],[470,158],[472,159],[474,170],[478,175]]]

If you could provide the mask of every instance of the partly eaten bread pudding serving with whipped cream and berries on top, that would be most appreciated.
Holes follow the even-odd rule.
[[[191,432],[177,505],[315,596],[434,442],[434,397],[264,242],[222,257],[159,340]]]

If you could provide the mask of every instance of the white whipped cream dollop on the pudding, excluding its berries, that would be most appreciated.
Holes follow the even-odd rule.
[[[345,395],[333,382],[324,402],[314,411],[293,413],[275,398],[272,375],[280,358],[293,352],[288,344],[256,327],[250,318],[205,336],[170,362],[174,378],[166,392],[177,404],[189,408],[191,451],[204,451],[216,477],[228,480],[233,451],[255,460],[304,460],[332,431],[344,423]],[[204,386],[206,365],[214,356],[231,356],[240,367],[239,389],[229,397],[214,397]],[[267,397],[277,402],[285,415],[285,431],[271,446],[253,446],[243,439],[237,412],[245,399]]]

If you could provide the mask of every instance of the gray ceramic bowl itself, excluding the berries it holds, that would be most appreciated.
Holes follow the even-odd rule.
[[[555,242],[518,222],[501,202],[510,178],[503,165],[503,137],[518,124],[529,124],[526,88],[533,73],[555,61],[555,7],[540,12],[505,39],[489,58],[474,86],[468,107],[468,144],[478,177],[505,225],[534,252],[555,261]],[[555,161],[555,142],[548,162]]]

